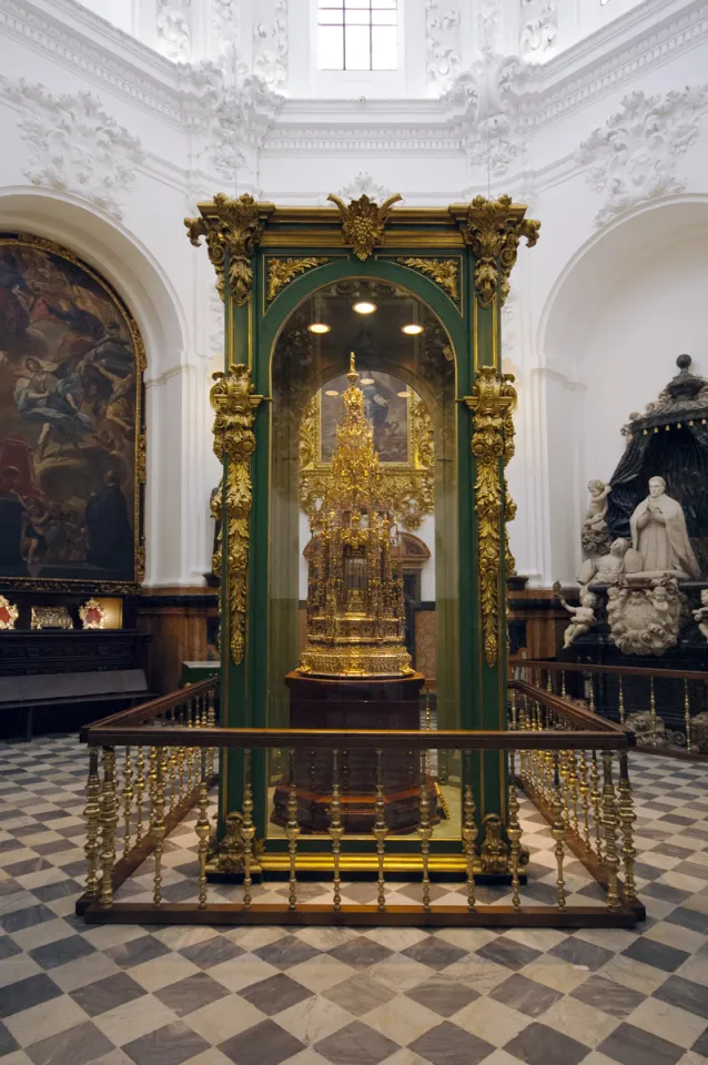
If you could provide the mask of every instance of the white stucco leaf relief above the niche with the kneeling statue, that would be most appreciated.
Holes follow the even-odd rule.
[[[664,97],[629,93],[604,126],[583,141],[576,159],[589,165],[588,182],[605,194],[596,226],[639,203],[680,192],[677,161],[698,136],[698,119],[708,106],[708,85]]]

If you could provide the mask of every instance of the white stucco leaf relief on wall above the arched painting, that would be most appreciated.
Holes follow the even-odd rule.
[[[144,155],[140,140],[87,90],[55,97],[40,83],[0,75],[0,92],[20,108],[19,129],[31,149],[24,176],[33,185],[83,196],[122,219],[122,194]]]

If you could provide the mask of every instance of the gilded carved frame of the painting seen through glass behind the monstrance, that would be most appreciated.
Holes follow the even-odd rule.
[[[305,407],[300,425],[300,506],[312,519],[325,494],[330,463],[322,462],[322,389]],[[381,463],[397,523],[407,531],[421,528],[435,507],[433,420],[418,394],[408,385],[408,462]]]

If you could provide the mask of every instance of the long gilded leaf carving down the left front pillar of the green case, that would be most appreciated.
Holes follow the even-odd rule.
[[[214,374],[210,393],[214,416],[214,454],[225,462],[224,509],[226,528],[226,579],[231,657],[236,665],[245,651],[249,604],[250,519],[253,503],[251,459],[255,452],[254,410],[262,396],[253,395],[249,367],[240,363],[229,374]]]

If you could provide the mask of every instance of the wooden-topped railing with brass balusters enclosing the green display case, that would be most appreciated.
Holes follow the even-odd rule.
[[[633,823],[635,814],[629,783],[628,751],[633,736],[594,717],[567,700],[522,681],[509,689],[507,730],[425,731],[304,731],[232,729],[216,724],[218,680],[210,679],[173,696],[124,711],[85,728],[89,746],[87,788],[87,882],[77,912],[90,922],[139,923],[316,923],[316,924],[419,924],[419,925],[547,925],[633,926],[644,917],[635,889]],[[431,897],[433,811],[431,810],[429,751],[459,751],[463,762],[461,835],[464,868],[464,904],[435,905]],[[208,878],[213,845],[210,831],[210,788],[215,780],[216,752],[241,752],[243,803],[231,821],[240,849],[240,900],[210,902],[214,889]],[[282,750],[287,787],[287,820],[284,825],[287,862],[287,897],[281,903],[259,903],[254,883],[260,872],[260,841],[254,824],[253,759],[255,751]],[[382,764],[386,753],[407,752],[419,762],[416,789],[418,812],[416,848],[419,854],[421,897],[413,905],[391,904],[386,873],[390,869],[390,835]],[[343,762],[353,751],[372,752],[375,820],[371,830],[375,854],[376,902],[351,905],[343,902]],[[295,771],[299,757],[328,751],[332,790],[328,797],[328,831],[317,839],[330,848],[331,901],[302,900]],[[506,760],[506,831],[499,839],[504,854],[504,882],[508,899],[481,904],[484,883],[482,862],[487,841],[481,840],[476,797],[473,790],[473,757],[497,751]],[[519,789],[546,814],[553,836],[556,869],[554,903],[527,904],[528,852],[523,845]],[[193,902],[169,902],[163,896],[165,839],[196,808],[194,850],[198,882]],[[326,842],[328,838],[328,843]],[[180,846],[185,843],[180,841]],[[120,851],[120,858],[117,852]],[[574,853],[604,891],[595,905],[568,902],[568,853]],[[152,855],[151,899],[129,902],[120,888]],[[502,866],[497,872],[502,871]],[[540,869],[542,875],[547,873]],[[323,889],[324,890],[324,889]],[[328,890],[328,889],[326,889]],[[117,894],[119,897],[117,897]],[[533,900],[533,894],[532,894]]]

